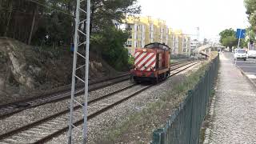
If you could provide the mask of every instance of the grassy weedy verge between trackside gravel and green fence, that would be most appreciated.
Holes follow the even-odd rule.
[[[190,70],[185,70],[140,94],[139,97],[131,100],[129,106],[127,105],[130,107],[129,114],[126,114],[125,108],[118,107],[114,113],[120,114],[121,116],[118,115],[118,118],[121,119],[112,119],[112,122],[106,122],[107,125],[112,126],[106,126],[105,130],[99,131],[97,136],[94,136],[94,142],[150,142],[152,131],[166,123],[168,116],[186,98],[187,90],[191,90],[198,83],[209,62],[201,62],[191,67]],[[117,110],[123,111],[121,113]]]

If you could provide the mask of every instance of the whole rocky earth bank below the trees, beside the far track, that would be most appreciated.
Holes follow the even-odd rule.
[[[0,99],[70,84],[72,62],[68,48],[44,49],[0,38]],[[82,76],[84,70],[78,74]],[[111,74],[116,71],[90,54],[90,79]]]

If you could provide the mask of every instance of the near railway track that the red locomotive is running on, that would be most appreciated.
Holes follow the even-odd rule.
[[[172,74],[170,75],[170,77],[196,64],[198,64],[198,62],[182,63],[182,65],[174,67],[172,69]],[[88,115],[88,120],[96,117],[98,114],[102,114],[106,110],[110,110],[112,107],[117,106],[118,104],[134,97],[135,95],[142,93],[144,90],[149,89],[151,86],[153,85],[141,86],[133,84],[130,86],[126,86],[123,89],[116,90],[113,93],[106,94],[100,98],[90,100],[90,102],[88,103],[88,111],[90,111],[90,114]],[[126,96],[118,96],[122,95],[120,93],[124,93],[126,94]],[[113,100],[115,101],[113,102]],[[104,105],[101,105],[101,103],[104,103]],[[101,108],[95,109],[95,106],[101,106]],[[78,126],[83,122],[82,114],[80,113],[82,111],[82,108],[80,106],[76,106],[74,110],[76,111],[74,114],[74,126]],[[11,130],[5,134],[0,135],[0,143],[47,142],[51,138],[57,137],[59,134],[62,134],[63,132],[68,130],[68,126],[66,125],[68,118],[69,110],[63,110],[58,114],[53,114],[47,118],[42,118],[37,122],[32,122],[30,124],[27,124],[26,126],[19,127],[18,129]]]

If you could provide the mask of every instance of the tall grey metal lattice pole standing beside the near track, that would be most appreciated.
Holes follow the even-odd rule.
[[[81,7],[82,2],[84,2],[85,7]],[[85,18],[80,17],[83,16]],[[82,26],[85,25],[86,26]],[[81,30],[82,29],[82,30]],[[79,35],[81,35],[82,42],[80,42]],[[73,143],[73,128],[75,130],[81,131],[83,141],[85,144],[87,140],[87,98],[88,98],[88,77],[89,77],[89,46],[90,46],[90,0],[77,0],[76,12],[75,12],[75,30],[74,30],[74,58],[73,58],[73,71],[72,71],[72,86],[71,86],[71,98],[70,98],[70,122],[69,122],[69,131],[68,131],[68,143]],[[81,53],[82,50],[85,50],[85,54]],[[83,64],[78,64],[78,58],[82,58]],[[83,69],[84,68],[84,69]],[[85,70],[85,76],[77,75],[78,70]],[[85,92],[83,96],[83,102],[79,102],[74,94],[76,92],[75,88],[78,82],[82,82],[85,86]],[[83,126],[80,130],[77,126],[74,126],[74,106],[82,106],[83,114]]]

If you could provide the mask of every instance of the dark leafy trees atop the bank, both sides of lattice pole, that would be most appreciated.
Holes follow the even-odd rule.
[[[127,65],[128,56],[123,46],[127,33],[116,27],[126,14],[140,12],[136,3],[137,0],[91,0],[91,46],[97,47],[99,56],[117,69]],[[0,36],[35,46],[70,46],[75,8],[74,0],[0,0]]]

